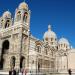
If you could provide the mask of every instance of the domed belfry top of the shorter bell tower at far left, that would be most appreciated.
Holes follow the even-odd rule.
[[[9,11],[3,13],[2,17],[0,18],[0,28],[5,29],[12,25],[12,16]]]

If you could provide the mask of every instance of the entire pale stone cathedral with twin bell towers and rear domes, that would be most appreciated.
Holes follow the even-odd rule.
[[[75,49],[69,41],[57,38],[51,25],[43,35],[43,40],[30,33],[30,9],[22,2],[15,10],[0,17],[0,70],[11,68],[27,69],[35,72],[64,72],[75,69]]]

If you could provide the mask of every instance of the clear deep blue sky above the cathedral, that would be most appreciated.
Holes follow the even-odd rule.
[[[9,9],[12,15],[24,0],[0,0],[0,16]],[[31,10],[31,33],[43,39],[48,24],[58,39],[65,37],[75,47],[75,0],[26,0]]]

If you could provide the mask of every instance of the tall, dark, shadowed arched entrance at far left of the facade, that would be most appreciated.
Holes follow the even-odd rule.
[[[2,43],[0,69],[3,69],[3,64],[4,64],[3,55],[7,53],[7,50],[8,50],[8,49],[9,49],[9,41],[8,41],[8,40],[5,40],[5,41]]]

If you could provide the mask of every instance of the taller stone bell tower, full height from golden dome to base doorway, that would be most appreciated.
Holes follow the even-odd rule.
[[[29,35],[30,35],[30,10],[25,2],[19,4],[15,10],[14,28],[18,32],[18,52],[17,67],[28,67],[28,53],[29,53]],[[17,38],[16,38],[17,40]]]

